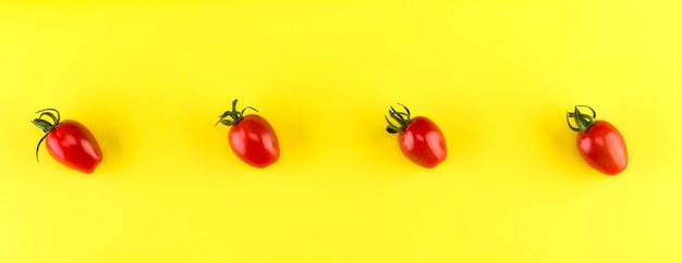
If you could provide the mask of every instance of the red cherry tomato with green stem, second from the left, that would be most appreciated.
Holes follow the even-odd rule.
[[[222,113],[218,123],[231,126],[228,140],[234,154],[254,167],[265,168],[279,160],[277,134],[270,123],[260,115],[244,115],[246,109],[258,112],[251,107],[236,111],[236,100],[234,100],[232,110]],[[224,120],[228,116],[232,120]]]

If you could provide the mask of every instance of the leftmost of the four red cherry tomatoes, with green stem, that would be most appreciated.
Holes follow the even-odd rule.
[[[32,123],[45,132],[36,148],[36,160],[40,145],[46,140],[47,151],[54,160],[70,168],[92,174],[102,159],[93,134],[76,121],[61,122],[60,114],[54,109],[45,109],[36,113],[40,115]],[[52,123],[42,120],[42,116],[50,117]]]

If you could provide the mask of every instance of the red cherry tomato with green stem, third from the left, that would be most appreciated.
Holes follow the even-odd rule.
[[[385,116],[388,122],[386,130],[398,134],[400,150],[410,161],[426,168],[436,167],[448,156],[446,139],[440,128],[427,117],[411,118],[410,110],[403,104],[400,105],[405,112],[395,111],[392,107],[389,110],[389,115],[399,126],[393,125]]]

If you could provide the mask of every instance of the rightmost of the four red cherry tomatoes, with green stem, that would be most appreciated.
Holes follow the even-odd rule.
[[[582,113],[579,108],[587,108],[592,115]],[[587,105],[576,105],[567,114],[569,127],[577,132],[577,151],[593,168],[617,175],[628,166],[628,148],[623,136],[607,121],[596,121],[596,112]],[[576,126],[570,122],[573,118]]]

